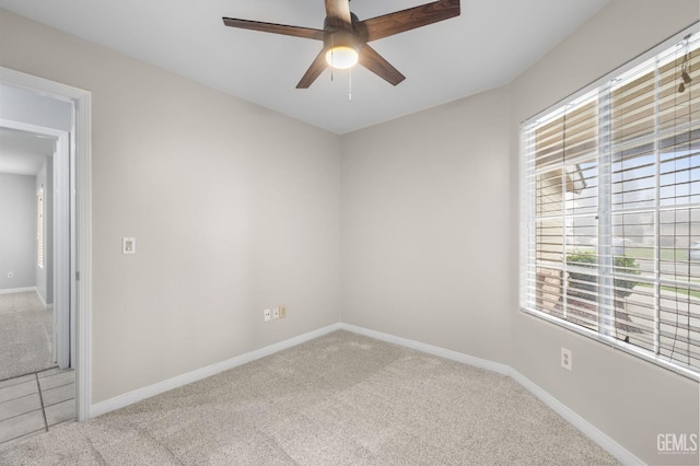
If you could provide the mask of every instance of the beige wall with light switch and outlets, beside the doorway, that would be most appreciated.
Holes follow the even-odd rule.
[[[336,135],[0,21],[0,65],[92,92],[93,403],[339,321]]]

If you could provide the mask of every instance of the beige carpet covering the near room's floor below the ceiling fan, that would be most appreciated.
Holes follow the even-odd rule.
[[[616,464],[511,378],[336,331],[0,451],[2,465]]]

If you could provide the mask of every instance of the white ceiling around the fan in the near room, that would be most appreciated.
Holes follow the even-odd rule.
[[[0,7],[311,125],[345,133],[506,84],[610,0],[462,0],[462,15],[371,43],[407,79],[325,71],[322,43],[225,27],[222,16],[323,28],[323,0],[0,0]],[[353,0],[360,20],[430,0]]]

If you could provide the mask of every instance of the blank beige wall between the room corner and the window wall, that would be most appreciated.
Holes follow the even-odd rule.
[[[497,90],[342,137],[343,322],[510,362],[509,115]]]

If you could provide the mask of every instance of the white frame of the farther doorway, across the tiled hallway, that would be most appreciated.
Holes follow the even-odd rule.
[[[72,171],[70,163],[70,133],[65,130],[32,125],[0,118],[0,127],[27,131],[35,135],[48,136],[56,140],[54,153],[54,173],[47,174],[54,180],[54,358],[60,369],[73,366],[71,364],[71,326],[75,319],[74,302],[70,290],[73,261],[71,260],[71,224],[73,206],[71,206],[70,186]]]

